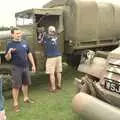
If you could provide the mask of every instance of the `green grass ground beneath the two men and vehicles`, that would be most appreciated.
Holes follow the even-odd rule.
[[[8,120],[79,120],[72,111],[71,101],[76,94],[74,77],[79,74],[67,68],[63,72],[63,89],[57,93],[47,91],[47,83],[43,82],[30,88],[30,97],[34,104],[24,104],[23,96],[20,96],[21,111],[15,113],[12,110],[12,99],[5,101],[5,109]],[[40,78],[40,80],[43,80]]]

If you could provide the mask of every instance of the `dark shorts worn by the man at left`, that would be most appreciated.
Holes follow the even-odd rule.
[[[12,67],[12,87],[20,88],[22,85],[30,85],[31,77],[29,68],[21,68],[18,66]]]

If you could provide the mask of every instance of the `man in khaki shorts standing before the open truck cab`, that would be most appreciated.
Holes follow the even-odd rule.
[[[48,33],[41,34],[39,43],[44,45],[46,55],[46,73],[49,74],[50,92],[61,89],[62,54],[59,50],[58,37],[54,26],[48,27]]]

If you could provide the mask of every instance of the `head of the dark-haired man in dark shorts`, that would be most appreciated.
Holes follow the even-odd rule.
[[[11,35],[14,38],[14,40],[20,40],[22,36],[22,31],[19,28],[12,28]]]

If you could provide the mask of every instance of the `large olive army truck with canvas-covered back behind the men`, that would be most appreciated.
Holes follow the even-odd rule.
[[[60,38],[60,49],[70,63],[79,64],[81,53],[87,49],[115,48],[120,38],[120,7],[96,0],[67,0],[49,8],[29,9],[15,14],[16,26],[24,32],[34,53],[38,71],[44,71],[45,56],[38,43],[38,30],[54,25]],[[8,33],[10,34],[10,33]],[[0,50],[4,55],[9,35],[2,37]],[[2,63],[4,59],[2,58]]]

